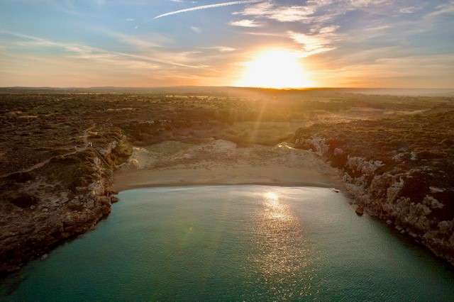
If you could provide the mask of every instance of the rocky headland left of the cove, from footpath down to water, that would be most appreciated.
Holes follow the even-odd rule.
[[[92,230],[111,212],[112,162],[118,141],[52,158],[31,172],[0,179],[0,272],[12,272],[67,238]],[[102,153],[102,155],[101,155]]]

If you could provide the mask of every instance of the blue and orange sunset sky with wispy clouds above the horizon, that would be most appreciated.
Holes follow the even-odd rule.
[[[1,0],[0,86],[454,88],[453,28],[454,0]]]

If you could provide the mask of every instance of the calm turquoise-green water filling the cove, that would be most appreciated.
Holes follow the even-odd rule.
[[[4,281],[0,299],[454,301],[450,265],[356,216],[331,189],[199,186],[119,197],[96,230]]]

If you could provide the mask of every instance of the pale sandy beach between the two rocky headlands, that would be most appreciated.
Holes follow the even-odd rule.
[[[167,141],[134,148],[115,172],[113,189],[222,184],[336,187],[340,181],[336,170],[312,152],[286,143],[238,148],[226,140],[199,145]]]

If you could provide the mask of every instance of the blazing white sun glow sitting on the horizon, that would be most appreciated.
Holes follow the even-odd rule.
[[[313,84],[300,58],[288,50],[268,50],[246,64],[235,86],[263,88],[304,88]]]

